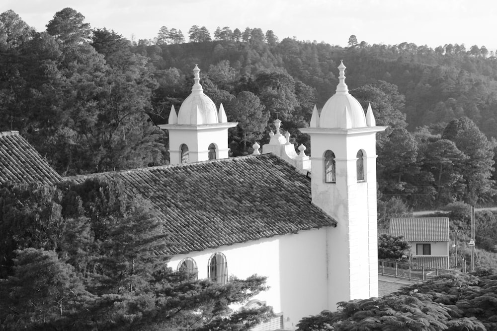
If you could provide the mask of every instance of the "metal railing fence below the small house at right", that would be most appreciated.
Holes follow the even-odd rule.
[[[387,276],[425,281],[444,273],[452,273],[447,269],[439,269],[424,265],[413,265],[397,261],[378,259],[378,273]]]

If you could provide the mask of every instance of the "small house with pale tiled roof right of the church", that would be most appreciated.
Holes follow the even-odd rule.
[[[411,262],[417,265],[449,268],[449,218],[392,218],[390,234],[403,236],[411,245]]]

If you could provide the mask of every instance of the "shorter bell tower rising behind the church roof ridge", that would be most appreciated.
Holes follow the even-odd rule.
[[[174,106],[168,124],[159,128],[169,131],[170,163],[190,163],[228,157],[228,129],[238,123],[228,122],[223,104],[217,110],[200,85],[200,69],[193,69],[191,94],[176,115]]]

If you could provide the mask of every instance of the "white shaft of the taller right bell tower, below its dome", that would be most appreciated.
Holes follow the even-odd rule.
[[[300,129],[311,134],[312,202],[338,222],[329,233],[328,252],[331,268],[338,270],[330,272],[329,281],[340,287],[330,291],[330,303],[378,296],[375,144],[376,132],[383,129]],[[336,183],[324,180],[326,150],[335,154]],[[357,182],[359,150],[364,182]]]

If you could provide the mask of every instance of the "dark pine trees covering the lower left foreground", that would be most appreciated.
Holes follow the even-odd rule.
[[[166,267],[150,202],[103,179],[0,187],[0,330],[247,330],[270,307],[233,312],[265,277],[226,285]]]

